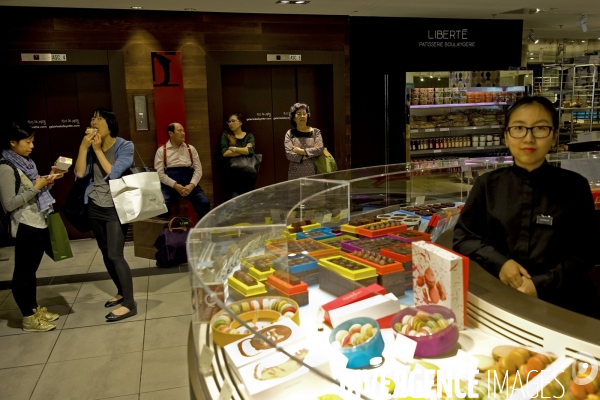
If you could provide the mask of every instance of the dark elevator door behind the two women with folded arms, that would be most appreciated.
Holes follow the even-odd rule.
[[[310,125],[321,130],[325,145],[334,152],[331,65],[223,66],[221,84],[223,112],[242,113],[246,120],[244,130],[254,135],[256,151],[263,155],[257,188],[287,180],[283,143],[292,127],[290,107],[296,102],[309,105]],[[213,143],[219,142],[221,133],[211,132]]]

